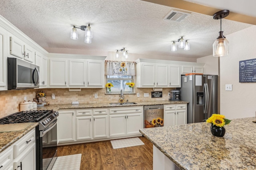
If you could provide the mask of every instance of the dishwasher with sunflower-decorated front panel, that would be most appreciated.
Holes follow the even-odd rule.
[[[144,106],[144,128],[164,126],[164,105]]]

